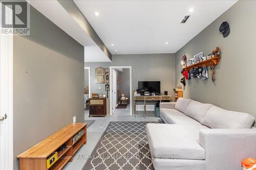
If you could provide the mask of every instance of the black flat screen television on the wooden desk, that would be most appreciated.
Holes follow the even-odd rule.
[[[138,92],[144,94],[145,91],[149,91],[150,93],[155,93],[159,95],[160,91],[160,81],[139,81],[138,82]]]

